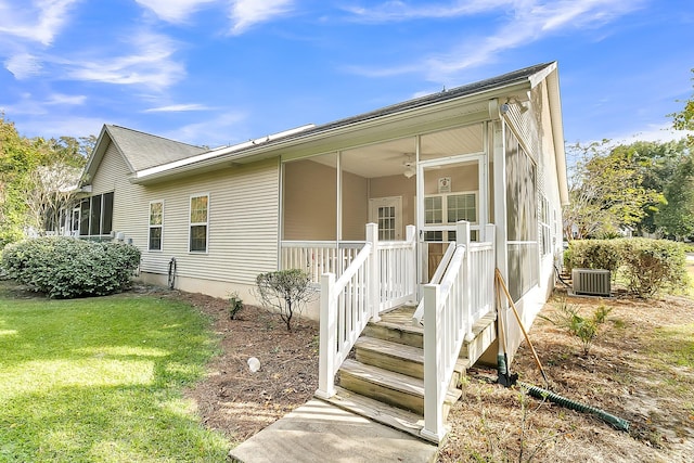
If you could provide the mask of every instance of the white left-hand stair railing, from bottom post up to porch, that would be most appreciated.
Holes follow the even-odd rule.
[[[378,242],[378,228],[367,224],[367,244],[335,280],[321,276],[319,384],[316,395],[335,395],[335,373],[369,323],[378,313],[416,297],[416,233],[407,241]]]

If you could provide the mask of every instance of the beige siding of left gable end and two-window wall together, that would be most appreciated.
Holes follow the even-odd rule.
[[[171,257],[180,278],[255,284],[258,273],[278,269],[279,159],[218,169],[152,185],[130,182],[123,156],[112,143],[94,175],[92,194],[115,191],[113,230],[142,253],[143,272],[166,274]],[[208,210],[207,254],[189,253],[191,193],[214,201]],[[162,250],[149,249],[150,203],[166,213]]]

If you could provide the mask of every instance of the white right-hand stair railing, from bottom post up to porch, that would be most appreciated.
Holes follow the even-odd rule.
[[[485,227],[485,242],[471,243],[470,223],[457,228],[455,252],[440,284],[424,286],[424,428],[440,440],[444,400],[465,338],[474,323],[493,308],[494,227]]]

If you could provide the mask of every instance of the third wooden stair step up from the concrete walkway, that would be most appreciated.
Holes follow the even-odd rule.
[[[361,363],[424,378],[424,350],[419,347],[361,336],[355,343],[355,353]]]

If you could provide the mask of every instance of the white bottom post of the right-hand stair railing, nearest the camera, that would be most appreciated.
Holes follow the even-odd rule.
[[[440,286],[424,285],[424,428],[422,436],[440,441],[444,427],[444,397],[440,387],[441,326],[438,323]]]

